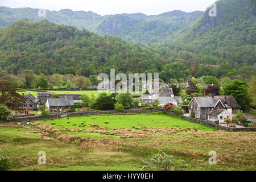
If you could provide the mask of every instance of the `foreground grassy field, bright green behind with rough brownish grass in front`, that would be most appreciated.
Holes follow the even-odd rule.
[[[255,133],[214,131],[163,113],[48,119],[29,126],[0,125],[0,154],[13,159],[12,170],[140,170],[141,159],[159,150],[185,160],[189,170],[256,169]],[[46,152],[45,166],[38,164],[39,151]],[[217,152],[217,165],[208,164],[209,151]]]

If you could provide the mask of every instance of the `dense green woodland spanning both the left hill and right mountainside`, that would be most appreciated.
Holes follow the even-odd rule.
[[[0,29],[0,77],[19,75],[26,69],[36,75],[89,77],[115,68],[116,73],[160,73],[166,82],[201,76],[250,81],[256,69],[255,1],[220,0],[216,5],[217,17],[209,17],[208,8],[195,23],[176,34],[173,42],[159,44],[131,44],[48,20],[18,20]],[[134,16],[144,17],[129,15]]]

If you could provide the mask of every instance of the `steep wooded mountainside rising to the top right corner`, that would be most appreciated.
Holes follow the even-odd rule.
[[[162,55],[168,55],[170,49],[172,55],[183,54],[184,59],[195,60],[195,69],[200,64],[221,65],[222,69],[231,65],[230,76],[237,75],[241,66],[251,72],[250,65],[255,64],[256,57],[255,1],[220,0],[216,6],[217,16],[210,17],[208,7],[174,42],[162,44]]]

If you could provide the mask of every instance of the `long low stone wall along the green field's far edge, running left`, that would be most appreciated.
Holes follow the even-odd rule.
[[[14,117],[10,121],[0,120],[0,123],[35,121],[35,120],[41,120],[41,119],[52,119],[52,118],[55,119],[60,117],[74,117],[74,116],[80,116],[80,115],[127,114],[127,113],[141,114],[141,113],[152,113],[152,112],[158,112],[158,111],[164,111],[164,109],[129,109],[124,111],[107,110],[107,111],[78,111],[74,113],[58,113],[58,114],[54,113],[54,114],[48,114],[48,115]]]

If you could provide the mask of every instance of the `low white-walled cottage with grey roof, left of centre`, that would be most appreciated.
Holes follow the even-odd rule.
[[[72,98],[48,98],[46,101],[46,108],[50,111],[64,111],[71,106],[75,106]]]

